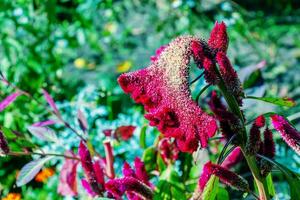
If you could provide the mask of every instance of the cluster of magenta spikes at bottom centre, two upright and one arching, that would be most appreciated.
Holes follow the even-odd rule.
[[[140,158],[134,160],[134,168],[135,170],[125,162],[123,166],[124,177],[109,180],[105,184],[106,190],[115,198],[121,198],[126,193],[129,200],[152,199],[152,185]]]

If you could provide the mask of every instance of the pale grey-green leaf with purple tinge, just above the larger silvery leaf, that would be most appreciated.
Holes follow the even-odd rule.
[[[41,140],[58,142],[56,133],[48,127],[29,126],[27,129],[32,135]]]

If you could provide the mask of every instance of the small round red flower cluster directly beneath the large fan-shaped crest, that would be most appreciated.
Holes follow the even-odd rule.
[[[163,138],[158,144],[158,151],[163,161],[168,164],[178,159],[179,149],[169,138]]]

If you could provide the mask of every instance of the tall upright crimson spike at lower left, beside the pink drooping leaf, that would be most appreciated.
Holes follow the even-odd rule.
[[[88,182],[95,194],[102,194],[102,192],[104,191],[103,185],[101,185],[101,182],[97,180],[97,175],[94,169],[94,164],[92,162],[90,152],[83,141],[80,142],[78,154],[81,160],[83,171],[87,178],[87,181],[84,180],[83,182]],[[86,183],[83,186],[85,185]]]

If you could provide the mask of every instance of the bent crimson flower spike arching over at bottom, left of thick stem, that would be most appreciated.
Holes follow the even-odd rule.
[[[211,162],[205,164],[199,179],[199,188],[201,191],[205,188],[205,185],[211,175],[217,176],[224,184],[229,185],[234,189],[249,191],[249,184],[243,177],[232,171],[229,171],[225,167],[213,164]]]

